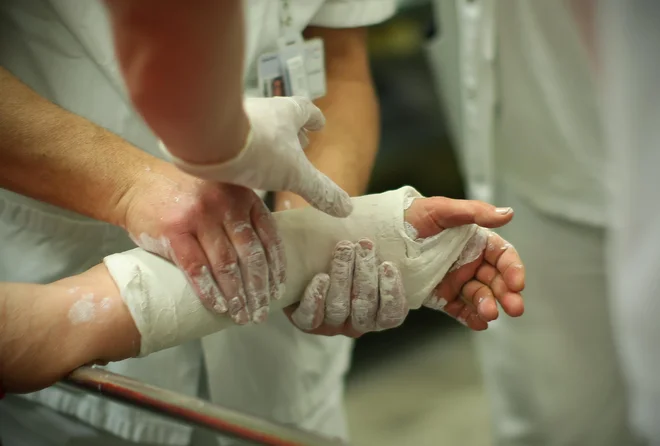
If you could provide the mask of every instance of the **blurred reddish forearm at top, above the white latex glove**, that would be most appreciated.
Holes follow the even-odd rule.
[[[200,164],[232,158],[249,128],[242,2],[105,3],[133,103],[168,150]]]

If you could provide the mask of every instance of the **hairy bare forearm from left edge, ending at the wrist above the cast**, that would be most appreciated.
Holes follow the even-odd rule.
[[[42,98],[0,68],[0,187],[113,224],[158,160]]]

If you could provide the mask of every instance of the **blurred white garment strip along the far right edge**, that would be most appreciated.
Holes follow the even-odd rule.
[[[604,0],[612,314],[633,429],[660,445],[660,3]]]

